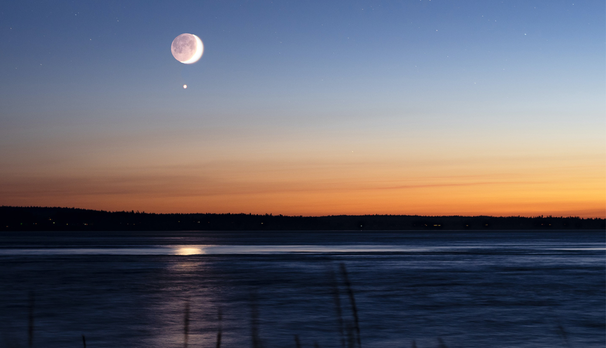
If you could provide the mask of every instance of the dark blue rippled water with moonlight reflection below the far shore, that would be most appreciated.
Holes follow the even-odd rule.
[[[606,345],[604,231],[0,238],[1,347]]]

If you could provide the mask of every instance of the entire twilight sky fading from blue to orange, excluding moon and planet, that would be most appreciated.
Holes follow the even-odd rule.
[[[0,12],[0,205],[606,215],[603,0]]]

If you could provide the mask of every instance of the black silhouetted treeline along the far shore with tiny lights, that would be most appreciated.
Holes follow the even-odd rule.
[[[419,215],[153,214],[0,206],[0,231],[398,231],[606,229],[604,218]]]

